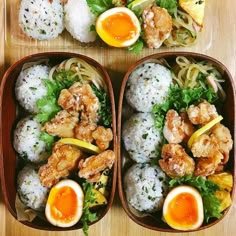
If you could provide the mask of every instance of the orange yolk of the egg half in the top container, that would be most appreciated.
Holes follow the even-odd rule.
[[[131,17],[123,12],[105,18],[102,27],[114,39],[122,42],[131,39],[137,30]]]

